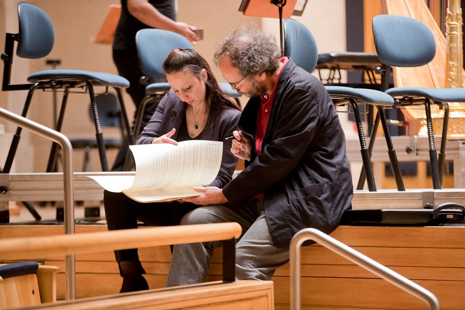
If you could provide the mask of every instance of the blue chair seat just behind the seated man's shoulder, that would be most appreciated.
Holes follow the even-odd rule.
[[[390,95],[372,89],[344,86],[325,86],[325,88],[332,98],[354,98],[358,102],[383,107],[392,107],[394,104],[394,99]]]

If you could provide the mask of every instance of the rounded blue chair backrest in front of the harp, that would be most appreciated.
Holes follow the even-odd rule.
[[[436,53],[434,35],[417,19],[378,15],[373,18],[376,53],[389,66],[417,67],[431,62]]]

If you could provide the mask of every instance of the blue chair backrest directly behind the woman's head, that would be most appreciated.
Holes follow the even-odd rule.
[[[161,29],[142,29],[136,34],[140,68],[146,77],[163,78],[163,61],[175,48],[194,48],[179,33]]]

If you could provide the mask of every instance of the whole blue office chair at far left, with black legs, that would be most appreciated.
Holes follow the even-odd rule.
[[[94,87],[103,86],[105,92],[109,87],[116,90],[118,102],[121,109],[121,118],[125,128],[125,137],[130,144],[134,144],[134,135],[129,124],[127,113],[124,108],[123,96],[121,89],[127,88],[129,82],[120,76],[83,70],[46,70],[31,74],[28,81],[33,84],[10,85],[11,66],[13,63],[14,42],[17,41],[16,55],[21,58],[38,59],[47,56],[54,44],[54,30],[50,18],[47,14],[35,5],[27,2],[18,4],[19,32],[16,34],[7,33],[5,52],[1,55],[4,62],[3,72],[3,91],[11,90],[29,90],[24,104],[21,116],[26,117],[31,104],[33,93],[38,90],[51,89],[54,91],[63,91],[63,100],[60,115],[55,129],[61,131],[66,108],[68,94],[73,89],[79,89],[79,92],[87,91],[90,95],[93,117],[96,132],[96,141],[99,149],[100,163],[102,171],[108,171],[108,161],[105,152],[105,143],[102,136],[101,125],[98,115],[98,107],[95,100]],[[16,154],[17,146],[20,140],[21,128],[16,129],[10,150],[6,159],[5,166],[1,172],[9,172]],[[47,172],[51,172],[55,166],[58,144],[52,145],[50,157],[47,165]]]

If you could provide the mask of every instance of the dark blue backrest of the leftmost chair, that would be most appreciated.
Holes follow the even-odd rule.
[[[18,4],[19,36],[16,55],[22,58],[42,58],[53,48],[53,24],[42,9],[27,2]]]

